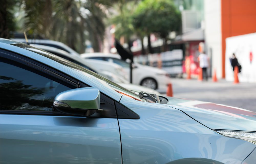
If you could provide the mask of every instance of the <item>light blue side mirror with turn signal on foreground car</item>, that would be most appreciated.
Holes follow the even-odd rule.
[[[54,98],[53,108],[70,115],[90,116],[100,109],[100,91],[85,87],[61,92]]]

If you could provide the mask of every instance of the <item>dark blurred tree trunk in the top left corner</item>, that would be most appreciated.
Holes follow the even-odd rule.
[[[15,31],[15,21],[12,9],[17,0],[1,0],[0,5],[0,37],[10,38],[10,32]]]

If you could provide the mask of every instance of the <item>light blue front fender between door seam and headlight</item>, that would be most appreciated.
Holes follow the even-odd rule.
[[[162,104],[139,102],[122,96],[121,104],[140,119],[118,119],[123,163],[168,163],[184,158],[205,158],[241,163],[255,144],[225,137]]]

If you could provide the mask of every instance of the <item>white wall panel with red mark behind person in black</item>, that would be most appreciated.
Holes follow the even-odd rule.
[[[238,74],[240,82],[256,82],[256,33],[232,36],[226,39],[225,74],[227,81],[234,81],[231,66],[232,54],[242,66]]]

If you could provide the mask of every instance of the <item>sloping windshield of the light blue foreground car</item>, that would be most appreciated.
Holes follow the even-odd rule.
[[[73,63],[73,62],[70,62],[70,61],[68,61],[68,60],[66,60],[66,59],[63,59],[63,58],[61,58],[61,57],[59,57],[59,56],[57,56],[57,55],[51,54],[51,53],[46,52],[46,51],[44,51],[44,50],[42,50],[42,49],[39,49],[39,48],[36,48],[36,47],[32,47],[32,46],[29,46],[29,45],[24,44],[24,43],[15,43],[15,44],[12,44],[12,45],[17,46],[17,47],[20,47],[20,48],[27,49],[27,50],[32,51],[32,52],[35,52],[35,53],[37,53],[37,54],[39,54],[39,55],[42,55],[42,56],[44,56],[44,57],[47,57],[47,58],[49,58],[49,59],[51,59],[51,60],[57,61],[57,62],[59,62],[60,64],[65,65],[65,66],[67,66],[67,67],[71,67],[71,68],[73,68],[73,69],[76,69],[76,70],[79,70],[79,71],[83,71],[83,72],[85,72],[85,73],[88,73],[88,74],[94,76],[95,78],[106,82],[106,83],[107,83],[109,86],[111,86],[116,92],[118,92],[118,93],[120,93],[120,94],[122,94],[122,95],[124,95],[124,96],[128,96],[128,97],[131,97],[131,98],[133,98],[133,99],[135,99],[135,100],[139,100],[139,101],[149,102],[147,99],[142,99],[142,100],[141,100],[138,95],[136,95],[136,94],[134,94],[133,92],[131,92],[130,90],[127,90],[127,89],[125,89],[124,87],[122,87],[122,86],[120,86],[120,85],[118,85],[118,84],[116,84],[116,83],[114,83],[114,82],[112,82],[112,81],[110,81],[110,80],[108,80],[108,79],[102,77],[101,75],[99,75],[99,74],[97,74],[97,73],[94,73],[94,72],[92,72],[92,71],[90,71],[90,70],[88,70],[88,69],[85,69],[84,67],[82,67],[82,66],[80,66],[80,65],[78,65],[78,64],[75,64],[75,63]]]

